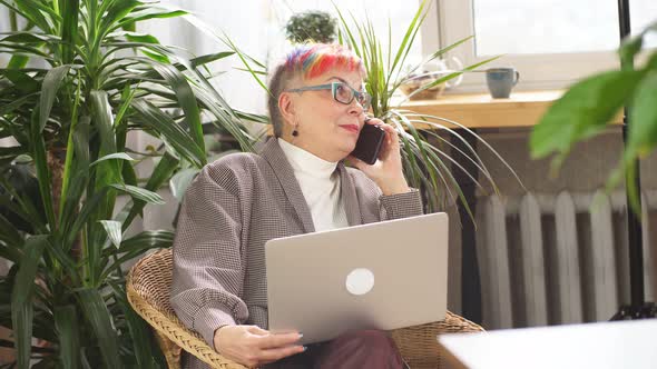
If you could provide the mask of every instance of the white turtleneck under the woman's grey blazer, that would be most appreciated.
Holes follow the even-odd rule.
[[[344,203],[340,196],[337,162],[326,161],[281,138],[278,144],[294,170],[305,198],[315,231],[347,227]]]

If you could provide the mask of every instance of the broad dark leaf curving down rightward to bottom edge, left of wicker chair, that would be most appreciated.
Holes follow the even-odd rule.
[[[98,339],[100,353],[106,368],[122,368],[119,352],[117,331],[112,323],[111,313],[107,310],[105,300],[96,289],[84,289],[77,292],[85,318]]]

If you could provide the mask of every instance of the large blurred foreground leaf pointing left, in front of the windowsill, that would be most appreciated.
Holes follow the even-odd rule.
[[[638,71],[608,71],[573,84],[533,128],[531,157],[558,152],[562,159],[575,142],[599,132],[633,94],[641,76]]]

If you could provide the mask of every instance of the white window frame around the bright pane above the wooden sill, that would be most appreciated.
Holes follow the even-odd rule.
[[[438,47],[447,47],[474,34],[472,0],[435,0],[437,7],[423,24],[423,52],[429,54]],[[614,24],[610,24],[614,27]],[[424,40],[426,36],[426,40]],[[426,47],[426,48],[425,48]],[[450,51],[463,66],[487,59],[475,57],[474,40]],[[520,71],[520,82],[516,90],[563,89],[595,72],[617,68],[618,58],[614,51],[580,53],[504,54],[480,69],[512,66]],[[458,88],[450,93],[486,91],[483,73],[465,73]]]

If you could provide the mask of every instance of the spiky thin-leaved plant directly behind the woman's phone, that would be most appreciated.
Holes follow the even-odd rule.
[[[482,174],[482,179],[487,181],[496,192],[498,191],[498,188],[478,153],[467,143],[465,139],[454,130],[454,128],[460,128],[469,134],[473,134],[479,142],[488,147],[499,160],[507,166],[511,173],[516,176],[513,170],[484,140],[459,122],[441,117],[416,113],[404,108],[401,103],[395,106],[392,103],[393,94],[403,83],[409,82],[414,73],[425,63],[442,58],[448,51],[472,39],[472,37],[468,37],[449,47],[440,49],[422,62],[409,68],[406,66],[406,57],[409,56],[418,32],[420,31],[420,27],[428,16],[430,6],[430,0],[423,0],[420,2],[418,11],[396,49],[392,49],[390,22],[389,29],[385,32],[388,36],[388,49],[384,49],[381,42],[382,38],[374,30],[370,19],[357,20],[353,14],[350,14],[350,20],[347,21],[343,12],[335,7],[341,22],[339,41],[349,46],[363,59],[366,72],[366,89],[372,96],[372,113],[398,130],[403,146],[402,161],[404,174],[411,186],[424,190],[423,192],[428,200],[428,210],[444,210],[449,203],[453,203],[458,198],[463,205],[463,208],[469,212],[470,218],[473,219],[474,217],[470,207],[465,201],[459,183],[452,176],[450,167],[453,167],[454,170],[462,170],[480,188],[483,189],[483,186],[480,181],[473,178],[460,162],[454,160],[452,154],[448,153],[445,148],[451,148],[452,150],[460,152],[465,160],[470,161],[475,168],[478,168],[479,172]],[[444,76],[424,83],[414,93],[444,83],[464,72],[473,71],[497,58],[498,57],[494,57],[478,62],[465,67],[462,70],[449,71]],[[463,152],[459,150],[451,142],[450,137],[465,143],[469,151]],[[516,176],[516,178],[518,177]]]

